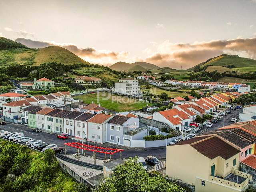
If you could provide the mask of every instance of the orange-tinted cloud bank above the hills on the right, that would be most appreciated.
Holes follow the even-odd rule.
[[[157,52],[148,56],[146,62],[172,68],[190,68],[208,58],[221,54],[239,55],[256,59],[256,38],[238,38],[233,40],[212,40],[192,44],[170,43],[158,45]]]

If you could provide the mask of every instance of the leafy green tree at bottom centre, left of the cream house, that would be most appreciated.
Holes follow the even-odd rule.
[[[101,182],[94,192],[185,192],[185,189],[160,176],[150,177],[137,163],[137,158],[130,158],[118,165],[105,182]]]

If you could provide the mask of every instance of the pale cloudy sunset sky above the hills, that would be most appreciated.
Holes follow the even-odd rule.
[[[256,0],[0,0],[0,36],[94,64],[186,69],[220,54],[256,59],[255,15]]]

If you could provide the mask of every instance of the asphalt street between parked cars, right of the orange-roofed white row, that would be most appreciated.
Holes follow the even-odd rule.
[[[239,119],[239,112],[242,112],[242,109],[238,109],[238,110],[231,110],[230,114],[225,115],[225,120],[224,117],[222,116],[221,119],[218,120],[217,123],[213,124],[212,127],[210,128],[206,128],[205,126],[200,130],[200,132],[198,132],[198,134],[204,133],[204,132],[208,132],[208,131],[216,131],[218,130],[218,128],[223,127],[223,120],[224,122],[224,126],[233,124],[234,122],[231,121],[232,118],[235,118],[236,115],[236,119]]]

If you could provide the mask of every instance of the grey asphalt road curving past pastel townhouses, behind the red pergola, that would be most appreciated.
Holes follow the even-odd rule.
[[[66,142],[78,142],[77,140],[74,140],[71,138],[66,139],[66,140],[56,138],[56,134],[50,134],[50,133],[46,133],[46,132],[35,133],[35,132],[32,132],[32,129],[28,128],[27,126],[20,126],[18,124],[8,123],[8,122],[6,125],[0,125],[0,130],[6,130],[9,132],[23,132],[24,136],[28,136],[33,139],[40,139],[43,142],[46,142],[48,144],[56,144],[59,147],[64,147],[64,143],[66,143]],[[100,146],[99,144],[96,144],[96,145]],[[68,154],[76,153],[75,148],[67,147],[67,149],[68,149]],[[92,152],[86,152],[86,154],[92,155]],[[122,152],[122,158],[128,158],[128,157],[134,157],[134,156],[146,158],[148,155],[153,155],[153,156],[156,156],[157,158],[163,160],[166,158],[166,148],[154,149],[154,150],[124,150]],[[104,158],[104,154],[97,153],[96,156],[98,158]],[[119,157],[120,157],[119,153],[112,155],[113,159],[116,159]],[[109,158],[109,156],[107,156],[107,158]]]

